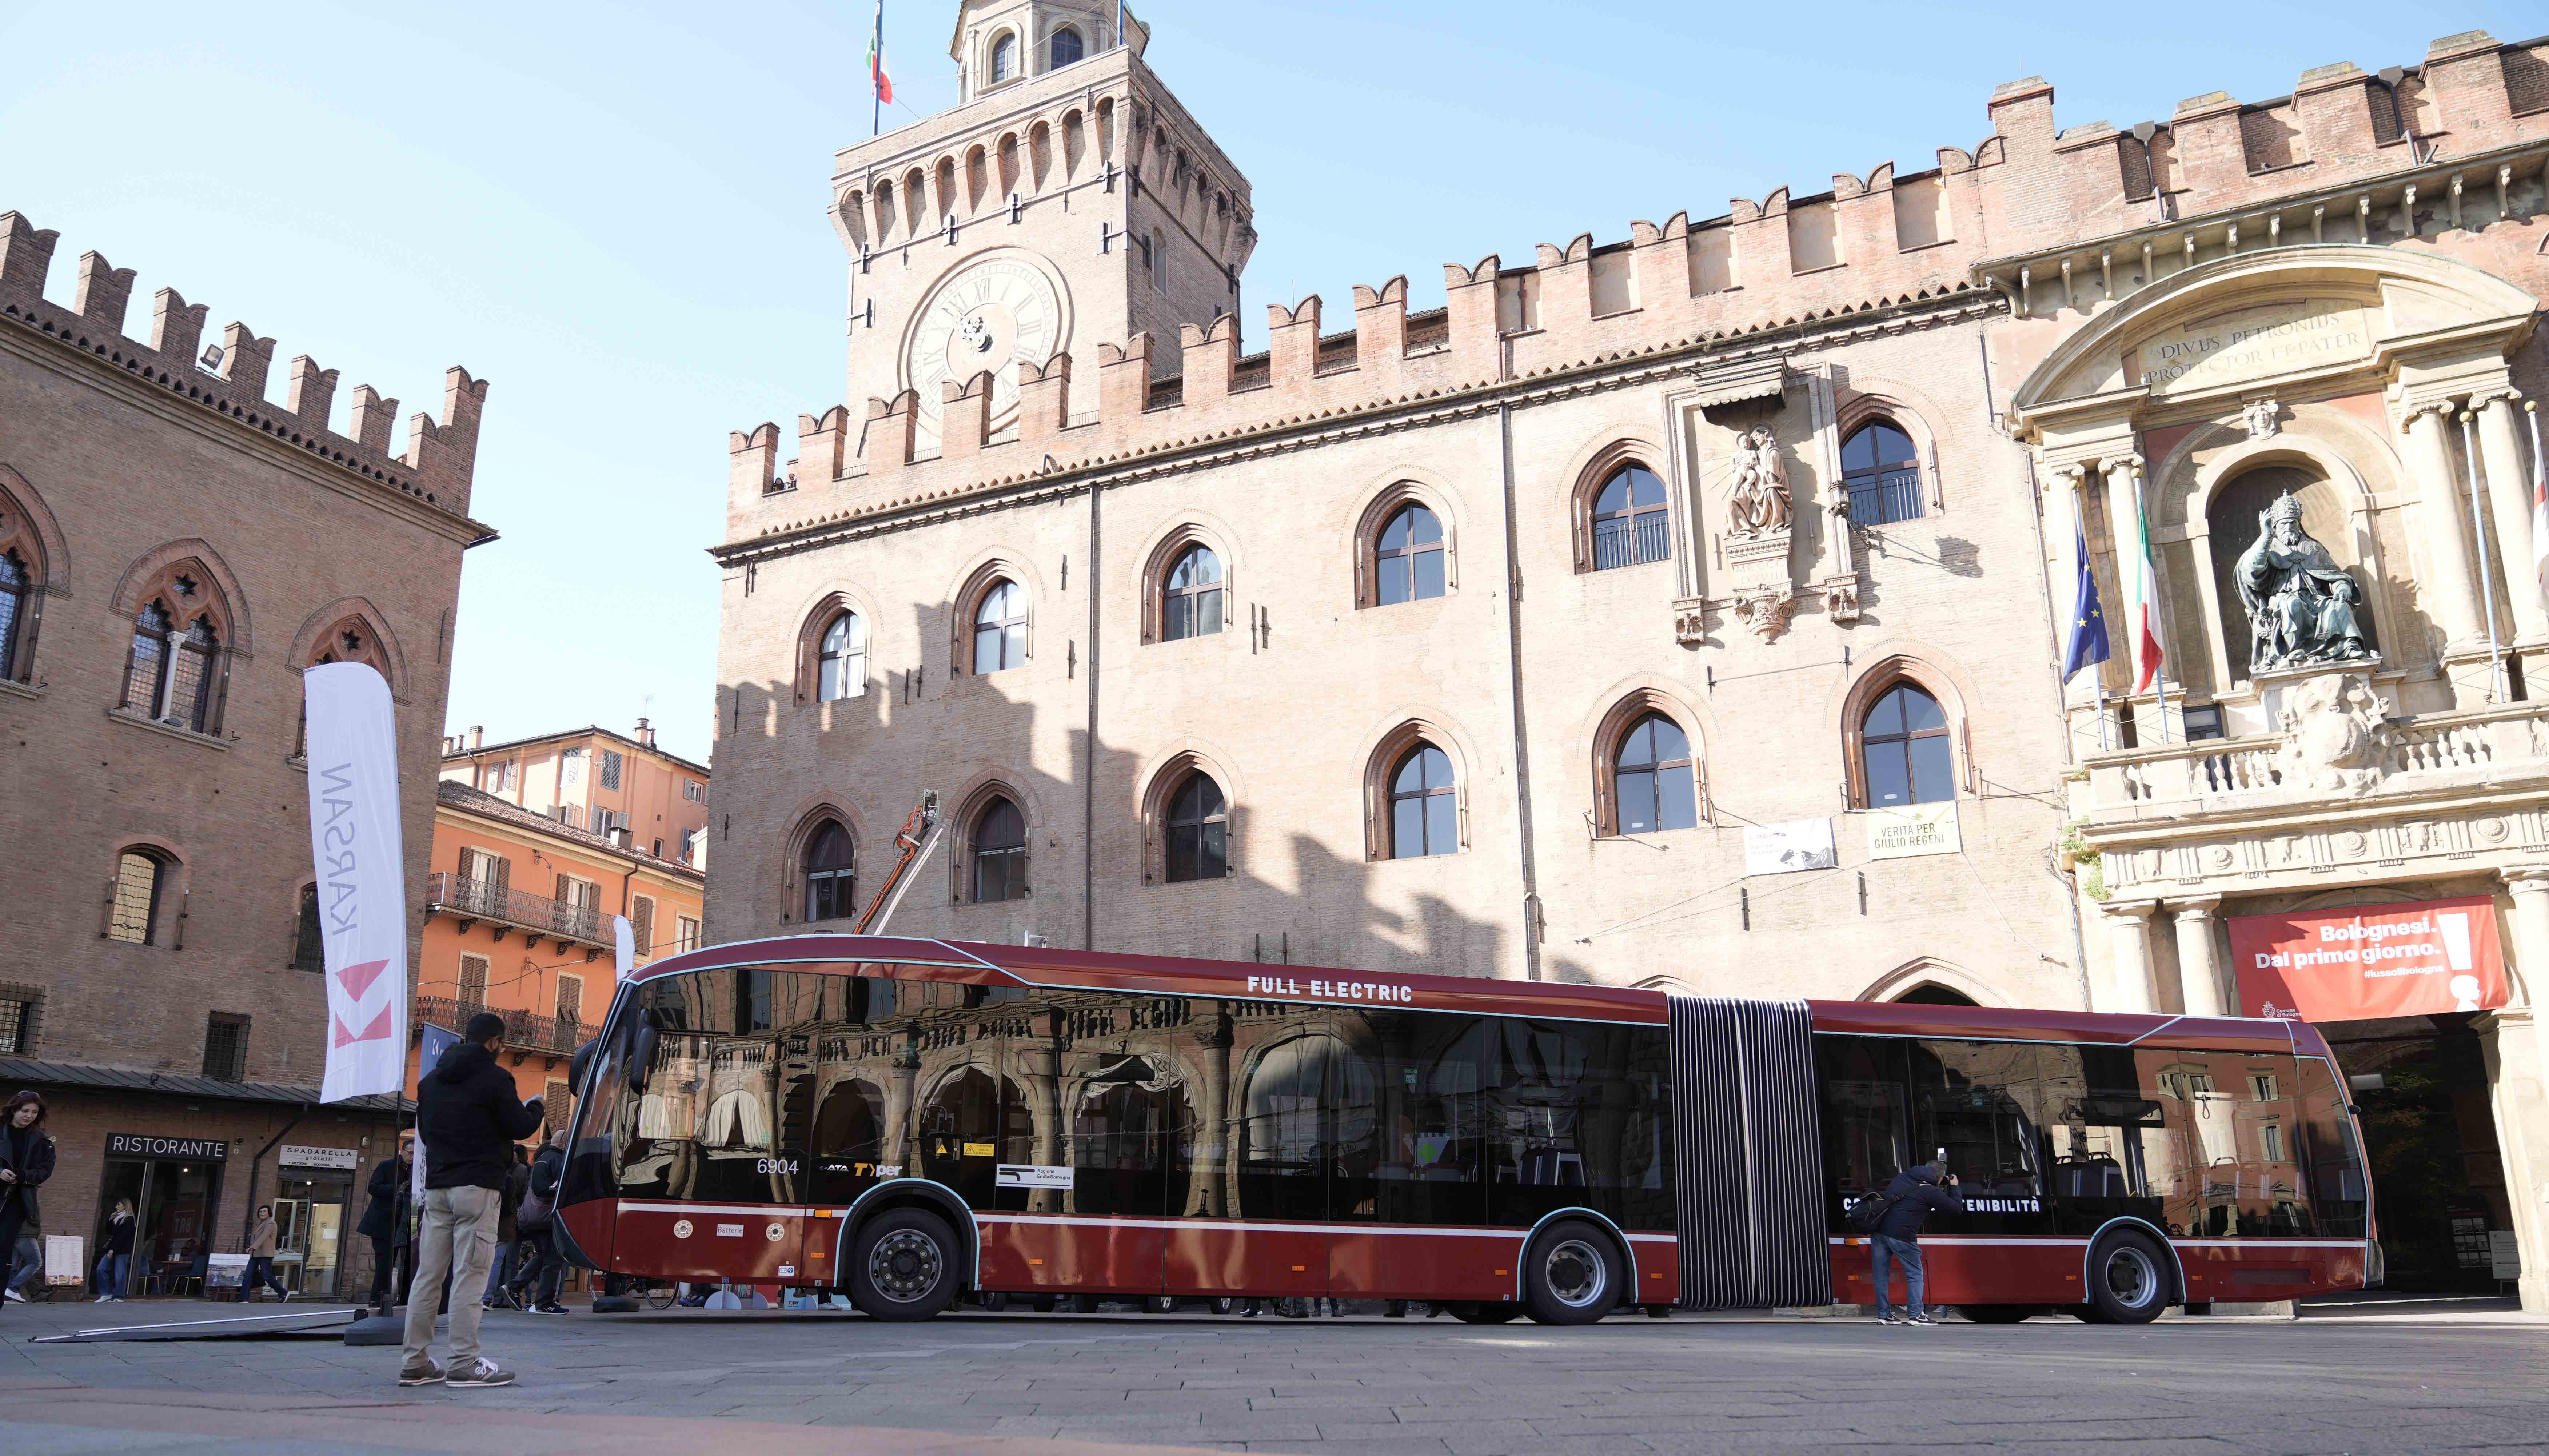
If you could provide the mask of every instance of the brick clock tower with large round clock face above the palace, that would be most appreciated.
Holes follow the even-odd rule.
[[[1180,324],[1239,311],[1249,181],[1142,61],[1147,43],[1111,0],[961,0],[956,110],[834,158],[849,400],[913,390],[918,451],[938,449],[948,382],[992,375],[999,439],[1022,362],[1081,354],[1081,418],[1099,342],[1147,329],[1175,370]]]

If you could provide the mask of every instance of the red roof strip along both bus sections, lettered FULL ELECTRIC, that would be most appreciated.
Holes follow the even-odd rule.
[[[1644,987],[1578,982],[1512,982],[1491,977],[1438,977],[1420,972],[1343,972],[1328,966],[1272,966],[1257,961],[1203,961],[1185,956],[1129,956],[1060,951],[1053,946],[1002,946],[984,941],[930,941],[918,936],[770,936],[729,941],[665,956],[630,974],[632,982],[734,966],[793,966],[813,974],[856,974],[862,964],[918,969],[923,979],[1017,984],[1043,989],[1134,992],[1162,997],[1229,997],[1313,1005],[1397,1005],[1471,1015],[1529,1015],[1664,1025],[1670,997]],[[905,972],[910,974],[910,972]],[[1953,1007],[1914,1002],[1807,1002],[1815,1030],[1919,1038],[2009,1038],[2090,1045],[2200,1045],[2215,1051],[2294,1051],[2327,1056],[2327,1043],[2307,1023],[2251,1017],[2182,1017],[2029,1007]]]

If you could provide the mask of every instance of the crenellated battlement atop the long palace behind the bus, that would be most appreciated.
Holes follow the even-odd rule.
[[[2549,207],[2549,38],[2447,36],[2414,69],[2320,66],[2292,97],[2215,92],[2128,130],[2057,133],[2052,97],[2042,76],[1996,87],[1991,135],[1937,148],[1924,171],[1884,161],[1817,194],[1782,186],[1710,219],[1634,222],[1619,242],[1580,232],[1542,242],[1529,268],[1448,263],[1443,309],[1417,316],[1399,275],[1356,286],[1354,326],[1320,334],[1313,293],[1267,306],[1262,354],[1236,352],[1231,319],[1183,326],[1180,360],[1157,360],[1157,377],[1152,334],[1101,339],[1025,367],[1017,418],[997,428],[989,377],[951,382],[935,456],[915,454],[907,393],[869,400],[856,436],[849,411],[800,416],[795,462],[775,426],[737,433],[729,543],[1644,354],[1749,349],[1856,316],[1914,326],[1981,291],[2019,316],[2093,311],[2223,250],[2432,240]],[[1081,413],[1073,365],[1099,380]]]

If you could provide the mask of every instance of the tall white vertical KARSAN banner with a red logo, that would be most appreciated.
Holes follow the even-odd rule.
[[[362,663],[321,663],[301,673],[301,694],[326,951],[319,1099],[395,1096],[408,1081],[408,877],[390,683]]]

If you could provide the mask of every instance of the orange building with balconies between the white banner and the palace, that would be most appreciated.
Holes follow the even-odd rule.
[[[566,1125],[568,1061],[617,989],[612,918],[630,918],[637,964],[698,946],[709,770],[653,737],[472,729],[444,752],[415,1023],[500,1012],[515,1089],[548,1099],[543,1135]]]

